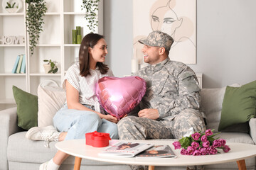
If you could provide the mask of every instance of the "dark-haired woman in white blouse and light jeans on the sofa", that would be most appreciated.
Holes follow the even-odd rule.
[[[53,118],[53,126],[34,127],[28,130],[30,140],[63,141],[85,138],[87,132],[107,132],[118,139],[117,118],[105,115],[95,94],[95,84],[102,77],[112,77],[105,57],[107,43],[102,35],[90,33],[82,39],[79,63],[76,62],[65,74],[63,89],[67,101]],[[58,130],[58,131],[57,131]],[[57,170],[68,154],[58,151],[53,159],[41,164],[40,170]]]

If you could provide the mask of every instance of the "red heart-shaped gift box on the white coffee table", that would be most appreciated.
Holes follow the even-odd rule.
[[[107,147],[110,144],[109,140],[111,140],[109,133],[97,131],[85,133],[85,139],[85,144],[91,145],[92,147]]]

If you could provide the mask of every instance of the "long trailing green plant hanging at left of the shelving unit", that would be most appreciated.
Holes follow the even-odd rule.
[[[43,16],[46,15],[46,1],[26,0],[26,27],[29,35],[31,55],[39,40],[39,34],[43,31]]]

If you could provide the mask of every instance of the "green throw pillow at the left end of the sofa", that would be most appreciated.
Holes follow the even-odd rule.
[[[14,98],[17,104],[18,127],[24,130],[38,125],[38,96],[13,86]]]

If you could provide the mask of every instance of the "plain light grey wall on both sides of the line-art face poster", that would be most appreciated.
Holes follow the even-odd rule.
[[[197,64],[189,66],[203,73],[203,88],[256,80],[255,7],[255,0],[197,0]],[[107,64],[122,77],[131,72],[132,0],[105,0],[104,14]]]

